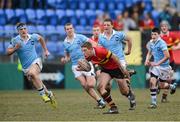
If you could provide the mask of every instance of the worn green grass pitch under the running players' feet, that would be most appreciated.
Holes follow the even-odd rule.
[[[127,98],[119,91],[112,91],[112,98],[120,114],[103,115],[105,109],[93,109],[96,102],[83,90],[54,90],[58,109],[42,102],[34,91],[0,91],[0,121],[180,121],[180,93],[169,95],[169,103],[158,102],[157,109],[148,109],[148,89],[136,89],[137,108],[129,111]],[[162,93],[162,92],[161,92]],[[160,101],[160,95],[158,96]]]

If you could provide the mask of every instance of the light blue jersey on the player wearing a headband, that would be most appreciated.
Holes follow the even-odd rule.
[[[16,50],[16,53],[18,54],[23,69],[27,69],[33,63],[33,61],[38,58],[35,43],[37,43],[39,35],[28,34],[28,36],[29,40],[26,44],[21,39],[20,35],[18,35],[12,38],[10,45],[8,46],[8,48],[12,48],[15,47],[17,43],[21,44],[21,47]]]

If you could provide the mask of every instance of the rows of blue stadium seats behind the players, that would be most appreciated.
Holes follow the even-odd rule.
[[[128,10],[132,17],[135,6],[138,7],[136,11],[140,19],[144,12],[150,12],[155,26],[159,26],[161,14],[161,11],[156,9],[159,0],[43,0],[41,3],[20,1],[22,0],[15,1],[12,8],[0,8],[0,37],[7,37],[12,33],[15,35],[14,25],[17,22],[27,23],[30,33],[38,32],[44,36],[55,33],[62,36],[65,35],[63,26],[67,22],[73,23],[77,32],[89,34],[98,16],[107,13],[115,20],[119,13]],[[170,7],[177,7],[177,2],[178,0],[170,0]],[[167,2],[164,2],[163,6],[164,4]]]

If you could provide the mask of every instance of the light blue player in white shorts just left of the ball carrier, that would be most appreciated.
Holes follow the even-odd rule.
[[[78,60],[84,59],[84,55],[81,51],[81,45],[89,39],[81,34],[74,32],[74,27],[71,23],[67,23],[65,26],[67,37],[64,40],[65,57],[61,58],[61,63],[65,64],[71,60],[72,71],[75,78],[80,81],[85,91],[98,102],[98,108],[104,108],[105,102],[96,93],[94,87],[96,84],[94,68],[91,64],[91,71],[78,71]]]

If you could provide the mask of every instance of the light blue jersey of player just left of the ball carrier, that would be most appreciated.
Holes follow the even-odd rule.
[[[75,34],[72,42],[67,38],[64,40],[65,52],[69,53],[72,65],[77,65],[79,59],[83,59],[84,55],[81,50],[81,45],[87,41],[87,37],[81,34]]]

